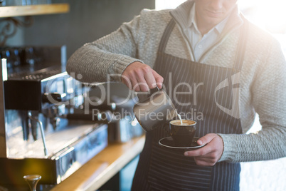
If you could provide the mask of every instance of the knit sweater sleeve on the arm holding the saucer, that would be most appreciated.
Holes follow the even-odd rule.
[[[260,117],[258,133],[225,135],[219,161],[247,162],[286,157],[286,63],[280,45],[268,45],[264,63],[251,88],[253,108]]]

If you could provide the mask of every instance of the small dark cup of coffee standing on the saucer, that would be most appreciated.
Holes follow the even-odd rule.
[[[196,121],[194,120],[171,120],[169,123],[169,132],[176,147],[190,147],[195,131]]]

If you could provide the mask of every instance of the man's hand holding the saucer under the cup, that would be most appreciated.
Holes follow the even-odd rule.
[[[223,139],[214,133],[210,133],[197,140],[197,143],[198,145],[207,145],[197,150],[186,151],[184,155],[194,157],[199,166],[215,165],[223,154]]]

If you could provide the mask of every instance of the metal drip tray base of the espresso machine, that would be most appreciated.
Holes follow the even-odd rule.
[[[42,176],[39,184],[56,185],[62,182],[107,147],[107,125],[76,125],[53,133],[51,137],[47,135],[46,142],[48,157],[42,156],[43,146],[38,146],[39,149],[35,150],[33,155],[17,153],[18,156],[24,157],[16,158],[14,155],[12,158],[12,155],[9,155],[9,158],[0,158],[0,185],[26,185],[23,176],[33,174]],[[35,144],[41,142],[35,141]]]

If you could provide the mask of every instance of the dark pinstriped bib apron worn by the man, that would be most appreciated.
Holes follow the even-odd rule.
[[[185,115],[184,118],[197,121],[196,137],[207,133],[242,133],[239,86],[244,33],[240,32],[233,68],[223,68],[164,53],[174,26],[172,19],[161,38],[154,70],[164,77],[166,93],[176,109]],[[174,91],[191,93],[173,95]],[[239,163],[217,162],[213,167],[198,166],[194,158],[161,148],[158,141],[166,136],[169,134],[163,128],[147,132],[132,190],[239,190]]]

